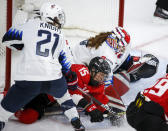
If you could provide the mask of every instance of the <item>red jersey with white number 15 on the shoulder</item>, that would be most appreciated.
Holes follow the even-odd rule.
[[[77,77],[78,77],[78,86],[80,88],[82,88],[85,92],[88,92],[90,95],[92,95],[93,97],[95,97],[97,100],[99,100],[100,102],[102,102],[103,104],[107,104],[109,99],[106,97],[106,95],[104,94],[104,84],[101,84],[99,86],[90,86],[89,85],[89,81],[90,81],[90,73],[89,73],[89,69],[84,66],[84,65],[80,65],[80,64],[73,64],[71,66],[71,70],[76,72]],[[70,94],[80,94],[83,95],[79,90],[69,90]],[[96,107],[101,110],[104,111],[105,109],[101,108],[100,106],[98,106],[95,103]]]

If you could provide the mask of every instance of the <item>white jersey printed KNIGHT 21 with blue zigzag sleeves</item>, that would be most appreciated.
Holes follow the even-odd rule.
[[[55,80],[62,77],[62,68],[67,71],[71,66],[72,58],[61,31],[39,19],[11,27],[2,41],[15,50],[23,46],[18,51],[14,80]]]

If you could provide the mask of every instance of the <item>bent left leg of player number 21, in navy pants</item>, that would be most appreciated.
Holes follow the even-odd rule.
[[[0,103],[0,121],[7,122],[8,118],[26,103],[33,99],[40,91],[40,83],[16,81],[2,98]]]

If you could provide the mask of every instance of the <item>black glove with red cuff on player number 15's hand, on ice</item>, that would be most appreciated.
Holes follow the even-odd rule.
[[[96,109],[96,106],[94,104],[87,107],[86,112],[90,116],[91,122],[101,122],[104,120],[103,113]]]

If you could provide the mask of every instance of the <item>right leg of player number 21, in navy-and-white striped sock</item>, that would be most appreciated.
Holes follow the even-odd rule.
[[[51,82],[49,94],[54,96],[57,102],[61,105],[64,114],[68,117],[73,127],[78,131],[84,131],[84,126],[81,124],[76,105],[67,90],[67,83],[64,77]]]

